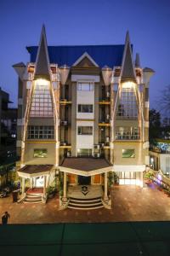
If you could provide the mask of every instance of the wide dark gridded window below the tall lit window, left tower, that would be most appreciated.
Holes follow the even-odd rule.
[[[28,139],[54,139],[54,126],[28,126]]]

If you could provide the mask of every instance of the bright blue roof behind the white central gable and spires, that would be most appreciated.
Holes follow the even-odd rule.
[[[31,62],[36,61],[37,46],[26,47],[31,55]],[[115,67],[122,65],[124,44],[119,45],[78,45],[78,46],[48,46],[50,63],[71,67],[84,52],[88,52],[99,67]]]

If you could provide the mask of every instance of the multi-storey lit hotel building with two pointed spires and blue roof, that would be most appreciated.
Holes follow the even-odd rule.
[[[17,171],[24,201],[30,187],[62,179],[61,205],[111,207],[108,177],[143,186],[149,163],[149,84],[152,69],[133,61],[127,32],[121,45],[38,46],[19,75]],[[84,197],[84,198],[83,198]],[[35,199],[35,200],[36,200]]]

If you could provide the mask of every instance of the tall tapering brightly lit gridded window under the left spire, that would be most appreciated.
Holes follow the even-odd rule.
[[[31,102],[31,117],[52,117],[53,105],[48,84],[35,84]]]

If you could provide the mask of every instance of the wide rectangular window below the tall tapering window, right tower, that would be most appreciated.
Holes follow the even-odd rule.
[[[139,128],[116,127],[116,140],[139,140]]]

